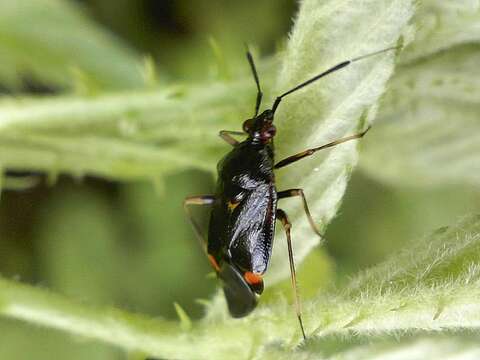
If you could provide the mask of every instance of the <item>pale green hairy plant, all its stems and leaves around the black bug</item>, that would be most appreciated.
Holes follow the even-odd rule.
[[[175,171],[214,169],[218,154],[224,152],[216,139],[218,130],[238,128],[239,114],[247,117],[251,112],[253,83],[246,71],[233,75],[234,80],[165,85],[155,77],[150,61],[141,65],[121,44],[112,45],[71,5],[47,0],[38,4],[42,2],[55,9],[47,13],[54,17],[47,25],[69,20],[56,22],[54,30],[43,33],[46,36],[59,33],[68,39],[74,26],[88,31],[79,35],[75,57],[62,43],[45,51],[42,44],[48,41],[9,21],[24,11],[37,16],[37,3],[2,5],[0,43],[8,50],[7,64],[15,65],[2,67],[0,78],[15,86],[17,73],[8,69],[22,64],[34,76],[69,92],[2,99],[1,168],[41,171],[52,183],[59,174],[88,174],[116,181],[146,179],[157,186]],[[478,186],[475,130],[480,103],[474,74],[480,60],[479,18],[478,4],[467,0],[303,1],[286,48],[278,59],[261,62],[267,99],[346,58],[395,43],[405,49],[356,63],[285,100],[278,112],[277,156],[350,134],[377,119],[365,139],[360,164],[369,176],[401,186]],[[34,62],[29,57],[32,44],[38,54]],[[115,58],[116,66],[100,69],[102,64],[89,61],[90,53],[99,49],[105,58]],[[447,120],[455,121],[454,126],[445,124]],[[179,127],[188,129],[188,137]],[[305,189],[323,230],[338,211],[357,162],[357,147],[344,144],[278,172],[280,188]],[[6,188],[30,185],[28,179],[2,179]],[[318,240],[300,204],[291,205],[300,262]],[[0,313],[163,358],[371,358],[416,347],[448,358],[478,352],[476,337],[458,330],[477,329],[480,295],[480,218],[467,216],[451,223],[417,243],[407,242],[402,253],[354,277],[344,288],[306,300],[304,317],[311,338],[300,348],[293,310],[275,296],[254,315],[232,320],[217,295],[206,305],[205,318],[192,324],[179,307],[180,323],[149,319],[76,304],[2,279]],[[281,240],[275,245],[269,285],[288,276]],[[407,336],[393,340],[400,335]],[[435,349],[434,342],[442,339],[449,351]]]

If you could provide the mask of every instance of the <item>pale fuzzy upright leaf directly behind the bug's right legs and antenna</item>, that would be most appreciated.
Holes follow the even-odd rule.
[[[304,1],[297,15],[277,93],[327,68],[395,45],[413,14],[409,1]],[[372,57],[322,79],[280,104],[277,160],[365,129],[375,118],[376,103],[393,72],[393,53]],[[339,145],[281,169],[278,189],[303,188],[321,231],[335,216],[357,162],[355,141]],[[293,219],[297,261],[319,244],[298,198],[281,202]],[[291,207],[290,207],[291,205]],[[278,239],[269,281],[288,275],[287,250]]]

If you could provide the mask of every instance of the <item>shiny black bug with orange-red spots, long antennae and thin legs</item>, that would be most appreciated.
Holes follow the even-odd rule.
[[[290,237],[291,224],[285,211],[277,207],[278,200],[299,196],[312,230],[318,236],[321,234],[312,219],[303,190],[277,191],[274,170],[310,156],[316,151],[361,138],[368,128],[359,134],[302,151],[275,163],[273,147],[276,132],[273,124],[275,111],[285,96],[355,61],[393,49],[397,47],[341,62],[278,96],[272,108],[260,115],[258,111],[262,102],[262,90],[252,55],[247,50],[247,59],[257,85],[255,113],[251,119],[243,123],[243,132],[220,131],[220,137],[233,146],[233,149],[218,163],[215,195],[192,196],[186,198],[184,202],[187,215],[202,240],[208,259],[222,281],[228,309],[233,317],[248,315],[257,304],[257,297],[263,291],[262,276],[267,270],[272,253],[275,220],[280,220],[287,237],[296,313],[305,338]],[[232,135],[244,135],[247,138],[239,142]],[[199,225],[189,212],[189,205],[211,206],[208,241],[203,239]]]

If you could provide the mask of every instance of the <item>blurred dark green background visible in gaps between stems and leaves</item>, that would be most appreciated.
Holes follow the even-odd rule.
[[[83,0],[74,4],[132,54],[149,55],[159,81],[200,83],[212,76],[212,63],[218,60],[215,49],[221,49],[229,64],[223,74],[227,77],[229,68],[246,66],[244,42],[253,44],[262,56],[274,54],[288,34],[297,6],[293,0]],[[0,1],[2,8],[8,8],[8,1]],[[28,23],[29,19],[14,20]],[[41,24],[37,26],[41,32]],[[0,67],[11,65],[2,60]],[[101,61],[114,63],[115,59]],[[66,91],[61,84],[28,72],[20,78],[14,84],[0,83],[1,91],[10,96]],[[242,120],[238,119],[239,124]],[[32,174],[10,175],[25,181]],[[42,179],[30,189],[4,190],[0,272],[79,301],[153,317],[175,318],[172,304],[178,302],[199,318],[203,308],[196,299],[210,297],[216,283],[207,276],[210,268],[185,219],[182,200],[211,193],[213,186],[212,174],[192,170],[169,175],[158,187],[61,176],[53,186]],[[313,294],[332,279],[341,283],[356,270],[400,249],[406,239],[478,211],[479,204],[480,192],[467,186],[389,187],[354,173],[344,204],[328,228],[328,242],[299,269],[302,293]],[[324,277],[318,277],[319,269]],[[288,286],[280,284],[277,289]],[[15,321],[0,320],[0,333],[1,359],[51,359],[52,353],[64,359],[136,356]]]

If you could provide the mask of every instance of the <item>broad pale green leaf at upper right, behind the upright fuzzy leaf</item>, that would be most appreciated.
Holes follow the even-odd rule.
[[[414,21],[415,41],[401,56],[361,168],[396,186],[478,185],[479,3],[422,1]]]

